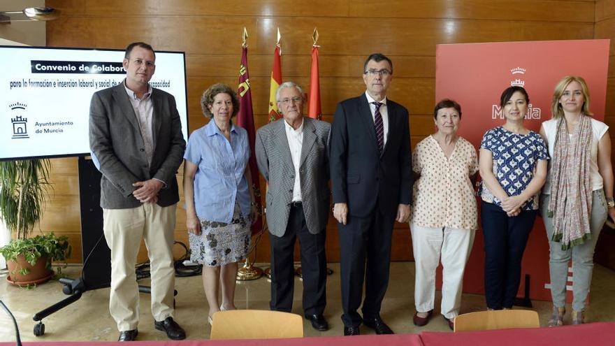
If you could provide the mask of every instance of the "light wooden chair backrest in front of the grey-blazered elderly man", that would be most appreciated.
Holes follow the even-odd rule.
[[[303,318],[269,310],[226,310],[213,315],[211,340],[303,338]]]

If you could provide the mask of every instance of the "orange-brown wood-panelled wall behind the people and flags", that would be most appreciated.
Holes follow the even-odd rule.
[[[267,122],[268,90],[277,27],[282,34],[282,76],[307,88],[311,36],[320,33],[321,97],[331,122],[338,101],[364,92],[366,56],[384,52],[393,59],[389,97],[410,110],[412,145],[433,131],[435,45],[491,41],[614,38],[614,0],[49,0],[61,9],[48,22],[47,43],[58,47],[124,48],[146,41],[157,50],[186,52],[190,131],[207,122],[199,101],[214,82],[236,85],[243,27],[249,33],[249,72],[256,127]],[[598,13],[600,9],[600,13]],[[600,18],[596,22],[594,17]],[[594,31],[597,32],[595,36]],[[614,40],[615,41],[615,40]],[[613,59],[612,59],[613,62]],[[609,72],[609,116],[615,115],[614,70]],[[608,119],[612,119],[609,117]],[[463,126],[463,122],[462,122]],[[76,159],[54,159],[57,185],[41,229],[66,233],[80,248]],[[181,184],[181,168],[180,168]],[[262,178],[261,178],[262,181]],[[61,186],[60,186],[61,185]],[[175,237],[187,242],[185,212],[178,205]],[[263,236],[258,260],[268,261]],[[335,222],[328,226],[327,255],[339,259]],[[410,259],[407,224],[396,225],[393,259]],[[175,249],[179,255],[181,249]],[[80,262],[75,251],[73,261]],[[140,252],[140,260],[145,252]]]

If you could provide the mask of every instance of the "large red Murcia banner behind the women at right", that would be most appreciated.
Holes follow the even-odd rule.
[[[595,119],[604,120],[608,65],[609,40],[437,45],[435,99],[454,99],[461,104],[458,134],[478,150],[484,133],[505,123],[500,94],[511,85],[524,87],[530,95],[525,126],[533,131],[539,131],[540,124],[551,119],[553,91],[565,75],[585,78],[591,111]],[[483,247],[479,229],[465,268],[465,292],[484,293]],[[540,217],[530,233],[522,266],[517,295],[523,296],[529,275],[530,298],[550,301],[549,243]]]

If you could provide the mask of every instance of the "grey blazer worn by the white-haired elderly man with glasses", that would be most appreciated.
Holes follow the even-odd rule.
[[[329,216],[328,138],[331,124],[303,117],[303,145],[299,175],[307,229],[312,234],[325,229]],[[286,231],[293,198],[295,168],[291,158],[284,119],[256,131],[256,163],[269,182],[267,224],[269,233],[281,237]]]

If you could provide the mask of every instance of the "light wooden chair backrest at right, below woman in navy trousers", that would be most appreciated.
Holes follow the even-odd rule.
[[[533,310],[490,310],[469,312],[455,317],[455,331],[538,328],[538,312]]]

